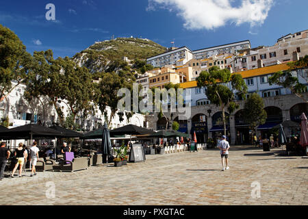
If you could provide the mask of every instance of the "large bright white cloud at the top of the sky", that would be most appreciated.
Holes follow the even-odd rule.
[[[149,0],[146,10],[175,10],[185,21],[186,29],[215,29],[228,22],[255,27],[264,23],[274,0],[238,0],[236,6],[234,3],[235,0]]]

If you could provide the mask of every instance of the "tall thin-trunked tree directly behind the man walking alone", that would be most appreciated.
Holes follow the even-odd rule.
[[[246,99],[247,86],[244,79],[242,79],[242,75],[231,75],[229,69],[224,68],[220,70],[218,66],[213,66],[209,68],[209,72],[202,71],[196,81],[199,88],[206,87],[205,94],[207,95],[207,99],[220,107],[222,111],[224,136],[226,136],[225,110],[227,109],[231,114],[239,107],[235,95],[240,99]],[[232,90],[225,85],[230,81]]]

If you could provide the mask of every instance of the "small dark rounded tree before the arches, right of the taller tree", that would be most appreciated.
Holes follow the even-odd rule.
[[[266,111],[264,110],[264,99],[257,93],[253,93],[244,104],[244,120],[253,127],[257,133],[257,127],[266,122]]]

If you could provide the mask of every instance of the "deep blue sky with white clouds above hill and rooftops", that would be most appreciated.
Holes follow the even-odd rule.
[[[47,3],[55,5],[55,21],[45,18]],[[308,29],[307,8],[307,0],[12,0],[1,2],[0,24],[30,53],[72,57],[112,35],[192,50],[241,40],[272,45]]]

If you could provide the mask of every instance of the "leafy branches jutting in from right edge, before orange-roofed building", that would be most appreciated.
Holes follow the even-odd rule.
[[[290,62],[287,65],[290,66],[288,70],[284,72],[279,71],[277,73],[274,73],[274,75],[268,79],[268,82],[270,83],[270,85],[277,84],[279,86],[282,86],[283,88],[290,89],[293,94],[308,103],[308,100],[305,99],[305,96],[303,96],[303,92],[307,91],[307,86],[304,83],[300,83],[297,75],[294,76],[292,74],[293,70],[299,68],[308,68],[308,55],[305,55],[305,57],[296,62]],[[306,82],[308,82],[307,77]]]

